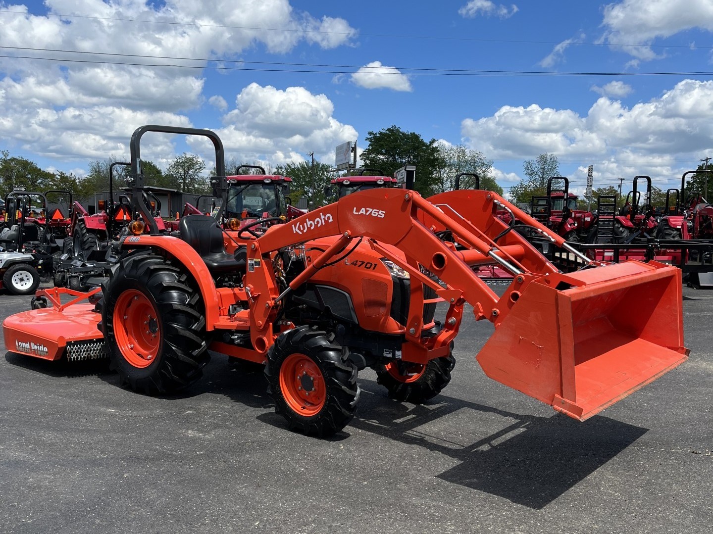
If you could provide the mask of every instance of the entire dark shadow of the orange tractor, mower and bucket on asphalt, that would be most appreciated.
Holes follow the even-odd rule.
[[[55,378],[98,376],[118,387],[118,375],[106,360],[46,361],[6,353],[6,361],[27,371]],[[549,417],[515,414],[484,404],[440,394],[426,404],[388,399],[376,381],[359,377],[359,412],[344,431],[327,438],[342,441],[358,429],[406,445],[453,458],[458,464],[436,476],[443,481],[506,498],[540,510],[598,468],[615,458],[648,428],[604,416],[585,422],[557,414]],[[263,423],[287,430],[275,414],[261,366],[232,364],[213,354],[204,376],[180,394],[185,399],[212,393],[265,410]]]

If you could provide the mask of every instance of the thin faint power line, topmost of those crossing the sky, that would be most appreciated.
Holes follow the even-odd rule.
[[[151,21],[148,19],[125,19],[123,17],[108,17],[108,16],[88,16],[88,15],[65,15],[58,13],[31,13],[29,11],[0,11],[0,14],[18,14],[25,16],[41,16],[41,17],[58,17],[60,19],[89,19],[97,21],[118,21],[118,22],[138,22],[142,24],[165,24],[168,26],[190,26],[195,28],[222,28],[235,30],[251,30],[251,31],[284,31],[297,34],[324,34],[324,35],[356,35],[357,31],[324,31],[324,30],[307,30],[307,29],[291,29],[291,28],[263,28],[258,26],[229,26],[225,24],[198,24],[196,22],[175,22],[175,21]],[[429,36],[429,35],[413,35],[413,34],[367,34],[359,32],[359,35],[366,37],[381,37],[381,38],[409,38],[409,39],[426,39],[432,41],[474,41],[482,43],[517,43],[517,44],[560,44],[567,39],[561,41],[525,41],[521,39],[486,39],[478,37],[455,37],[455,36]],[[570,42],[570,46],[620,46],[620,47],[648,47],[648,48],[701,48],[703,50],[713,49],[713,46],[691,46],[691,45],[664,45],[664,44],[647,44],[647,43],[604,43],[604,42]]]

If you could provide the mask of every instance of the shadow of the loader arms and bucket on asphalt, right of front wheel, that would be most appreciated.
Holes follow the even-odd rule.
[[[438,478],[536,510],[648,431],[603,416],[525,416],[443,394],[416,406],[384,399],[374,381],[359,384],[361,405],[350,427],[453,458],[458,465]]]

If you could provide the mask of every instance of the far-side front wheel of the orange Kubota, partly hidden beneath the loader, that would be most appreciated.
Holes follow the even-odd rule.
[[[456,366],[453,354],[432,359],[426,365],[394,360],[376,371],[376,383],[389,391],[389,398],[399,402],[422,404],[433,399],[448,386]]]

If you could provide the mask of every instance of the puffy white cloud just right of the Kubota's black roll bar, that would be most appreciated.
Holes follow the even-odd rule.
[[[314,151],[319,160],[334,163],[334,148],[358,138],[351,125],[332,115],[334,104],[303,87],[277,89],[251,83],[237,95],[235,109],[224,115],[215,130],[228,157],[264,160],[272,165],[302,161]],[[191,145],[206,144],[190,138]]]

